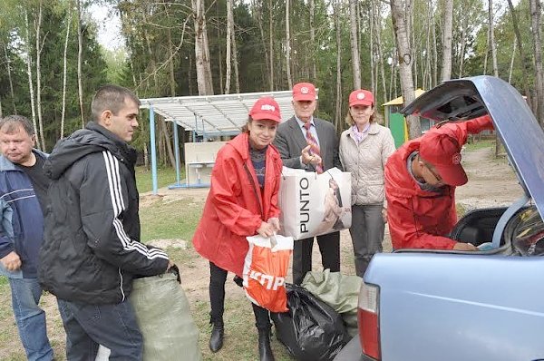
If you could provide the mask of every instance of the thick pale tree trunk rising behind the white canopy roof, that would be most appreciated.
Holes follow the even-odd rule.
[[[199,95],[213,95],[204,0],[191,0],[195,17],[195,63]]]

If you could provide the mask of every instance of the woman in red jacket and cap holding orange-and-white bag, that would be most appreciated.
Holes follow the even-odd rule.
[[[248,253],[246,237],[270,237],[279,230],[277,192],[282,162],[271,143],[280,119],[273,98],[257,100],[243,132],[219,150],[211,173],[211,189],[193,244],[202,257],[209,259],[212,352],[223,346],[225,281],[228,272],[242,276]],[[252,306],[260,360],[274,360],[268,311]]]

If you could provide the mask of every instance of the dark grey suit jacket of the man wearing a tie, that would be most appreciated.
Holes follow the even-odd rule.
[[[324,171],[334,167],[342,170],[342,164],[338,157],[338,137],[336,136],[335,127],[331,122],[316,117],[314,117],[314,124]],[[276,145],[286,167],[316,171],[313,165],[300,162],[300,155],[302,150],[306,148],[307,143],[295,117],[279,124],[274,145]]]

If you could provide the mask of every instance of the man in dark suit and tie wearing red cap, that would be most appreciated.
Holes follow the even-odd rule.
[[[321,173],[331,168],[342,169],[338,157],[338,137],[331,122],[314,117],[316,87],[297,83],[293,87],[295,115],[277,127],[276,145],[286,167]],[[317,236],[323,268],[340,271],[340,233]],[[300,285],[306,272],[312,270],[314,238],[300,239],[293,249],[293,283]]]

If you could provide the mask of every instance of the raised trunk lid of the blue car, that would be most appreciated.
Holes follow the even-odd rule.
[[[521,186],[544,216],[544,132],[509,83],[490,75],[447,81],[401,112],[435,122],[460,122],[489,113]]]

